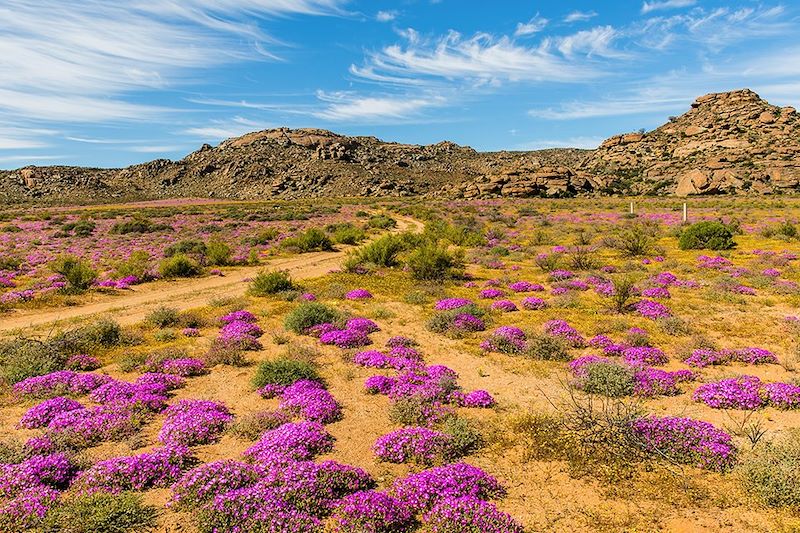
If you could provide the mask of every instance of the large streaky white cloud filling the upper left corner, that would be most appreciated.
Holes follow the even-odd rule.
[[[341,13],[346,0],[2,0],[0,120],[142,121],[138,103],[196,71],[270,56],[258,21]],[[273,46],[274,45],[274,46]]]

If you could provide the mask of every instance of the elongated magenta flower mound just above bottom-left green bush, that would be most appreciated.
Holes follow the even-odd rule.
[[[79,494],[119,493],[165,487],[188,466],[192,453],[185,446],[167,446],[130,457],[100,461],[75,478],[72,488]]]

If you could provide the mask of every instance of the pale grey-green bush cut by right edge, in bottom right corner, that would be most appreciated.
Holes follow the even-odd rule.
[[[745,491],[767,507],[800,508],[800,441],[790,437],[758,446],[739,464]]]

